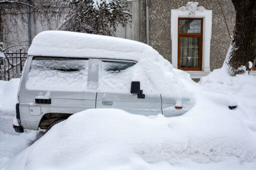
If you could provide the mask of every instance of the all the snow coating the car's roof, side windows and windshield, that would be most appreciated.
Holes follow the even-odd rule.
[[[102,92],[129,93],[131,81],[140,81],[141,89],[146,94],[161,93],[162,96],[175,98],[177,102],[189,98],[189,92],[175,75],[171,63],[151,46],[138,41],[69,31],[44,31],[33,39],[28,54],[138,61],[134,66],[119,72],[104,71],[102,63],[98,82],[91,83],[87,82],[86,71],[90,70],[86,66],[77,72],[61,72],[58,68],[60,65],[68,67],[74,64],[61,64],[59,61],[49,64],[47,60],[43,60],[43,63],[33,60],[26,85],[29,89],[84,91],[89,88]]]

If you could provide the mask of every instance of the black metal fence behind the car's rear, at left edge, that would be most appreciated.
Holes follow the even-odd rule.
[[[9,81],[12,78],[20,78],[27,54],[22,49],[5,52],[5,57],[0,57],[0,80]]]

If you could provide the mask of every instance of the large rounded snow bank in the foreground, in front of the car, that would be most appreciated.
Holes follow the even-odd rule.
[[[17,155],[10,169],[157,169],[161,162],[171,166],[185,158],[253,160],[255,133],[232,110],[209,104],[171,118],[119,109],[81,111]]]

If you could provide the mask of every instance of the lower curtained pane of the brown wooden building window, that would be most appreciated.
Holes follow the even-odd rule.
[[[198,68],[199,37],[180,37],[180,67]]]

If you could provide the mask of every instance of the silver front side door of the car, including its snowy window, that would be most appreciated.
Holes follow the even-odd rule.
[[[101,59],[96,108],[119,108],[142,115],[162,114],[160,94],[145,93],[145,97],[131,94],[135,64],[131,60]]]

